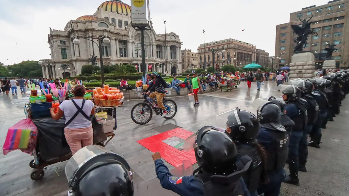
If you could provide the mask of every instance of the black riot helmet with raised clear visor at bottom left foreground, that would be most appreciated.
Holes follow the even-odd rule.
[[[90,145],[69,159],[65,173],[72,196],[133,196],[131,167],[102,146]]]

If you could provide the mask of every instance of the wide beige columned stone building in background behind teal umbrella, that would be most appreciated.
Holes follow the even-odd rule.
[[[213,53],[211,50],[215,50]],[[218,55],[220,51],[225,50],[225,54]],[[198,47],[200,68],[213,66],[213,58],[215,65],[235,65],[243,67],[252,61],[256,61],[256,46],[236,39],[224,39],[210,43],[201,44]],[[234,61],[234,58],[237,60]],[[224,59],[224,62],[222,61]]]

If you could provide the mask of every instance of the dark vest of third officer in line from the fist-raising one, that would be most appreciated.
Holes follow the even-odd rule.
[[[287,132],[268,130],[273,138],[273,146],[275,148],[272,151],[267,151],[265,166],[267,171],[275,171],[285,166],[288,155],[288,134]]]

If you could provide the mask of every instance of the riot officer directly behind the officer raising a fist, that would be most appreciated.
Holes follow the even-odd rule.
[[[241,155],[247,155],[252,159],[248,171],[243,176],[244,182],[251,196],[257,196],[257,188],[260,185],[261,175],[264,170],[263,162],[266,160],[264,149],[256,140],[260,124],[251,112],[234,108],[228,116],[226,133],[235,141],[237,150]]]

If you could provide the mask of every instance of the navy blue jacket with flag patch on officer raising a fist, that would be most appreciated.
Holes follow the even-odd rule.
[[[172,190],[180,196],[203,196],[204,186],[199,180],[191,176],[173,176],[161,159],[155,160],[155,172],[157,178],[160,180],[161,186],[164,189]],[[240,181],[243,184],[244,196],[250,196],[244,180]]]

